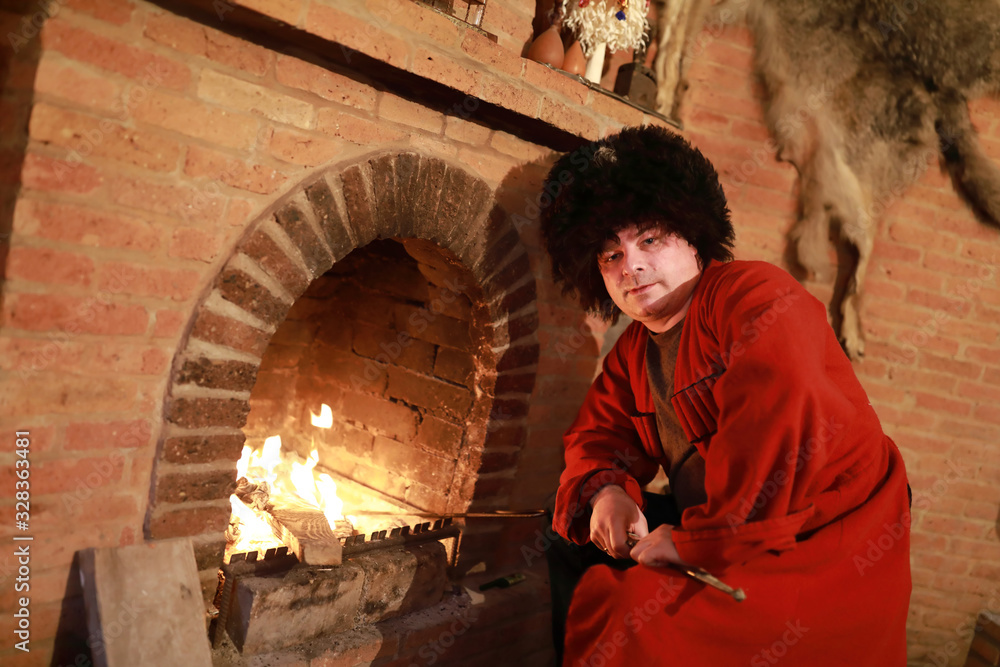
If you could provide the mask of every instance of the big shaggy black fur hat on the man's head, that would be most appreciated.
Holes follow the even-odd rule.
[[[556,162],[542,209],[555,279],[580,305],[615,321],[597,266],[603,243],[629,225],[661,226],[698,251],[702,265],[732,259],[733,225],[715,167],[680,137],[655,126],[627,127]]]

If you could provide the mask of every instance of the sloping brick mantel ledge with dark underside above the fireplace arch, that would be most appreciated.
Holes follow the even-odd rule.
[[[199,11],[204,23],[242,32],[279,51],[293,45],[307,49],[390,89],[423,96],[424,103],[443,104],[451,115],[497,116],[489,124],[515,128],[515,134],[556,150],[571,150],[624,125],[676,127],[655,112],[521,58],[471,26],[459,27],[439,12],[409,0],[337,6],[323,0],[175,0],[170,4]],[[224,16],[219,15],[218,5],[224,8]],[[248,29],[255,34],[247,35]]]

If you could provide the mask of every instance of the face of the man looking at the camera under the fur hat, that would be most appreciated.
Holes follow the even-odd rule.
[[[701,276],[698,252],[659,227],[622,229],[604,242],[597,264],[615,304],[655,333],[684,317]]]

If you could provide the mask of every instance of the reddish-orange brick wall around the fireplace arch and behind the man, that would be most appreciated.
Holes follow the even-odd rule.
[[[0,34],[24,39],[0,70],[0,233],[12,234],[0,426],[31,432],[36,554],[32,653],[7,646],[0,660],[65,664],[85,650],[78,549],[150,534],[221,534],[218,504],[197,496],[154,496],[153,505],[171,511],[148,515],[156,474],[176,465],[177,474],[205,475],[192,488],[217,495],[212,485],[222,485],[219,473],[243,443],[238,425],[197,435],[164,428],[172,378],[191,358],[184,346],[201,340],[230,350],[230,361],[260,359],[280,318],[261,329],[234,312],[225,298],[232,284],[220,278],[247,269],[232,264],[242,253],[256,257],[259,272],[249,270],[271,294],[298,289],[277,286],[282,276],[294,283],[298,275],[304,290],[310,258],[282,245],[298,272],[283,274],[265,261],[281,253],[247,254],[266,245],[252,232],[266,227],[272,241],[290,243],[294,225],[273,219],[275,202],[299,196],[318,173],[339,178],[367,164],[376,149],[460,166],[492,190],[524,249],[533,284],[508,285],[494,302],[509,314],[497,333],[509,336],[496,365],[505,393],[494,397],[498,427],[483,434],[476,495],[509,507],[542,502],[605,327],[549,280],[533,222],[539,184],[553,150],[661,121],[519,58],[535,14],[530,0],[491,0],[483,28],[496,43],[403,0],[247,0],[223,3],[220,13],[190,0],[177,3],[178,14],[131,0],[54,4],[55,16],[37,20],[40,34],[31,25],[36,4],[0,12]],[[710,26],[693,54],[684,133],[720,167],[738,255],[786,265],[795,178],[766,150],[749,36]],[[974,105],[987,150],[1000,158],[991,139],[998,118],[998,107]],[[942,655],[937,664],[961,663],[969,638],[959,625],[1000,579],[996,236],[928,170],[879,229],[863,312],[868,355],[856,368],[909,466],[917,509],[911,645],[914,660],[930,664]],[[503,259],[487,263],[502,269]],[[490,277],[481,263],[470,268]],[[829,296],[825,285],[808,287]],[[248,394],[245,375],[227,377],[235,385],[195,393]],[[236,409],[233,423],[244,416]],[[9,538],[13,455],[0,456],[8,507],[0,532]],[[489,555],[498,568],[524,567],[521,547],[535,530],[470,525],[463,550]],[[199,554],[204,567],[218,562],[212,549]],[[12,564],[0,555],[7,636]]]

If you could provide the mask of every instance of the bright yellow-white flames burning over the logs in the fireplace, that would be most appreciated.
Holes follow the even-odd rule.
[[[324,405],[320,419],[325,419],[329,407]],[[313,423],[316,416],[313,415]],[[332,419],[332,415],[331,415]],[[332,423],[332,422],[331,422]],[[317,473],[319,452],[313,449],[309,458],[294,452],[281,451],[281,436],[271,436],[259,450],[249,445],[243,447],[240,460],[236,464],[236,479],[245,477],[249,482],[266,488],[269,502],[277,507],[308,506],[326,516],[330,529],[336,529],[336,521],[343,520],[343,502],[337,497],[337,485],[326,473]],[[266,484],[266,487],[263,485]],[[233,515],[227,533],[233,544],[227,553],[264,550],[281,546],[274,537],[268,522],[248,507],[236,494],[230,497]]]

